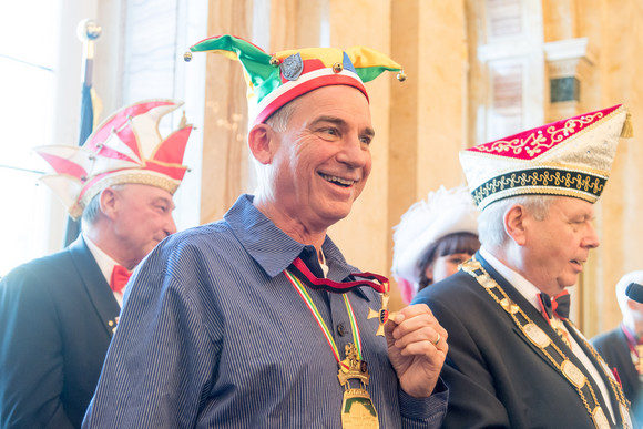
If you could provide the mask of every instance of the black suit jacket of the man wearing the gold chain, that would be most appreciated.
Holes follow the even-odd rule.
[[[584,369],[540,311],[479,254],[476,258],[509,298]],[[450,390],[443,428],[594,428],[575,388],[471,275],[460,270],[422,289],[414,299],[417,303],[428,304],[449,334],[441,374]],[[610,389],[609,380],[604,382]],[[594,391],[601,397],[596,387]],[[620,422],[615,397],[612,402]],[[602,409],[609,419],[604,404]]]

